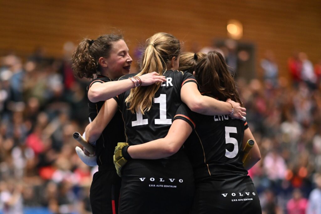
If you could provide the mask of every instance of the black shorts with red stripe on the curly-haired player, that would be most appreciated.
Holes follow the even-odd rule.
[[[90,187],[90,204],[93,214],[117,214],[121,179],[114,166],[96,172]]]

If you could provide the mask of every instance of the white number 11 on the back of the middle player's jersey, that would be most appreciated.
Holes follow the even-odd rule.
[[[166,94],[160,94],[158,98],[154,98],[154,103],[160,104],[160,119],[155,119],[155,124],[172,124],[172,119],[166,118]],[[146,124],[148,119],[143,119],[142,112],[136,112],[136,120],[132,121],[132,126]]]

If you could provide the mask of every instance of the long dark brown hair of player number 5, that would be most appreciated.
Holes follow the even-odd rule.
[[[239,92],[235,88],[234,79],[219,52],[207,53],[207,56],[195,66],[195,78],[202,92],[222,101],[230,98],[235,102],[242,103]]]

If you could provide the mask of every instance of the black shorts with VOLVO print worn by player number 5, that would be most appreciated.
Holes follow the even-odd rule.
[[[212,178],[213,179],[213,178]],[[195,184],[191,214],[261,214],[260,200],[250,177],[236,185],[218,187],[220,181],[204,180]]]

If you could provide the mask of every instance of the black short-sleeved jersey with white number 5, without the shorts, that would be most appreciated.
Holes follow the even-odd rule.
[[[185,104],[178,108],[175,119],[185,120],[193,129],[184,145],[196,180],[236,172],[247,175],[241,148],[247,122],[228,115],[201,115],[192,112]]]

